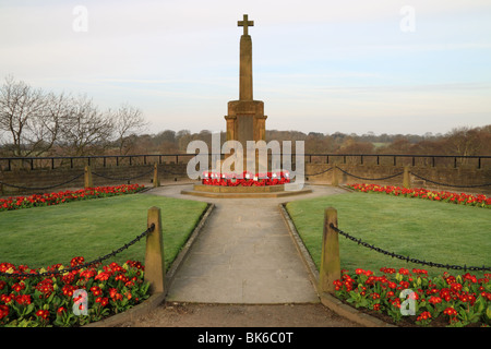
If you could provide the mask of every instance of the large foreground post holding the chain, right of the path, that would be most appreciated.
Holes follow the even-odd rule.
[[[319,289],[321,293],[334,293],[335,287],[333,281],[340,278],[338,233],[330,227],[331,224],[337,228],[337,210],[336,208],[327,207],[324,213],[322,257],[319,273]]]

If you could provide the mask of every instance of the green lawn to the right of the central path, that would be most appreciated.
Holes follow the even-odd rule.
[[[324,209],[330,206],[337,209],[340,230],[385,251],[450,265],[491,265],[489,209],[376,193],[347,193],[286,206],[318,268]],[[339,249],[342,268],[350,272],[358,267],[378,272],[383,266],[423,268],[431,275],[444,272],[392,258],[342,236]]]

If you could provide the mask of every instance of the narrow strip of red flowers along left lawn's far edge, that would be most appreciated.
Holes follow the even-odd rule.
[[[29,196],[15,196],[0,198],[0,212],[20,208],[29,208],[36,206],[59,205],[73,201],[109,197],[122,194],[133,194],[141,191],[144,185],[123,184],[117,186],[96,186],[86,188],[77,191],[67,190],[64,192],[34,194]]]

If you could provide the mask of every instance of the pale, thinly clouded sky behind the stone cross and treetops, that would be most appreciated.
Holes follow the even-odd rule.
[[[491,123],[491,1],[4,1],[0,79],[128,103],[149,133],[225,131],[237,21],[266,129],[446,133]]]

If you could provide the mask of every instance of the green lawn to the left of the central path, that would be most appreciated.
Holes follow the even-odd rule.
[[[160,207],[167,267],[192,232],[206,203],[132,194],[0,213],[0,263],[29,267],[89,262],[146,230],[147,210]],[[106,262],[144,262],[145,239]],[[106,263],[105,262],[105,263]]]

